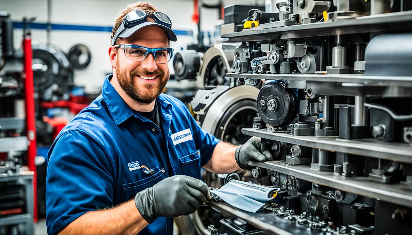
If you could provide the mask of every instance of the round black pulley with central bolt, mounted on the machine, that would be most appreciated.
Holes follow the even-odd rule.
[[[262,120],[274,127],[292,123],[299,112],[299,99],[292,88],[271,82],[260,89],[258,113]]]

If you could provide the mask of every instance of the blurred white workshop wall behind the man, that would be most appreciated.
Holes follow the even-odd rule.
[[[128,3],[135,0],[50,0],[52,7],[52,24],[72,24],[84,26],[110,26],[115,21],[116,14],[124,9]],[[194,12],[193,0],[150,0],[159,11],[167,14],[172,22],[174,30],[193,30],[197,26],[192,22]],[[204,0],[208,4],[217,0]],[[224,5],[262,4],[262,0],[225,0]],[[0,10],[11,14],[12,21],[22,21],[23,16],[37,16],[35,22],[47,23],[47,0],[0,0]],[[215,30],[214,23],[219,19],[217,9],[201,9],[201,30],[212,33]],[[61,48],[64,52],[75,44],[85,44],[92,55],[89,66],[84,70],[75,70],[75,84],[84,86],[89,93],[99,93],[106,73],[111,72],[108,59],[108,47],[110,46],[110,32],[79,31],[79,30],[52,30],[50,43]],[[14,45],[20,48],[22,30],[14,30]],[[46,30],[32,30],[33,41],[46,43]],[[192,36],[178,35],[177,42],[171,42],[171,47],[176,50],[185,49],[187,44],[193,42]],[[207,42],[207,41],[206,41]],[[169,63],[171,67],[171,63]],[[173,68],[171,69],[171,72]]]

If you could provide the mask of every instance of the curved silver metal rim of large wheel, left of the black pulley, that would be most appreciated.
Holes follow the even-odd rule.
[[[223,113],[239,100],[257,100],[259,89],[254,86],[236,86],[220,95],[206,113],[201,128],[207,133],[213,133]]]

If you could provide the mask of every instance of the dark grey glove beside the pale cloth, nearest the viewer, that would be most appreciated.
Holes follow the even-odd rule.
[[[175,175],[138,192],[134,202],[143,218],[152,223],[159,216],[191,214],[210,199],[209,188],[203,181],[187,175]]]

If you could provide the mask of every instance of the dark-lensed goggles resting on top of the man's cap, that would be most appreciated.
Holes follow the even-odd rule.
[[[153,19],[156,23],[166,26],[169,29],[172,29],[172,21],[169,16],[162,12],[153,12],[150,13],[150,18]],[[112,37],[112,46],[115,45],[115,42],[120,34],[122,34],[126,29],[132,28],[140,23],[147,22],[147,13],[143,10],[137,10],[129,12],[123,19],[123,23],[116,30],[115,35]]]

